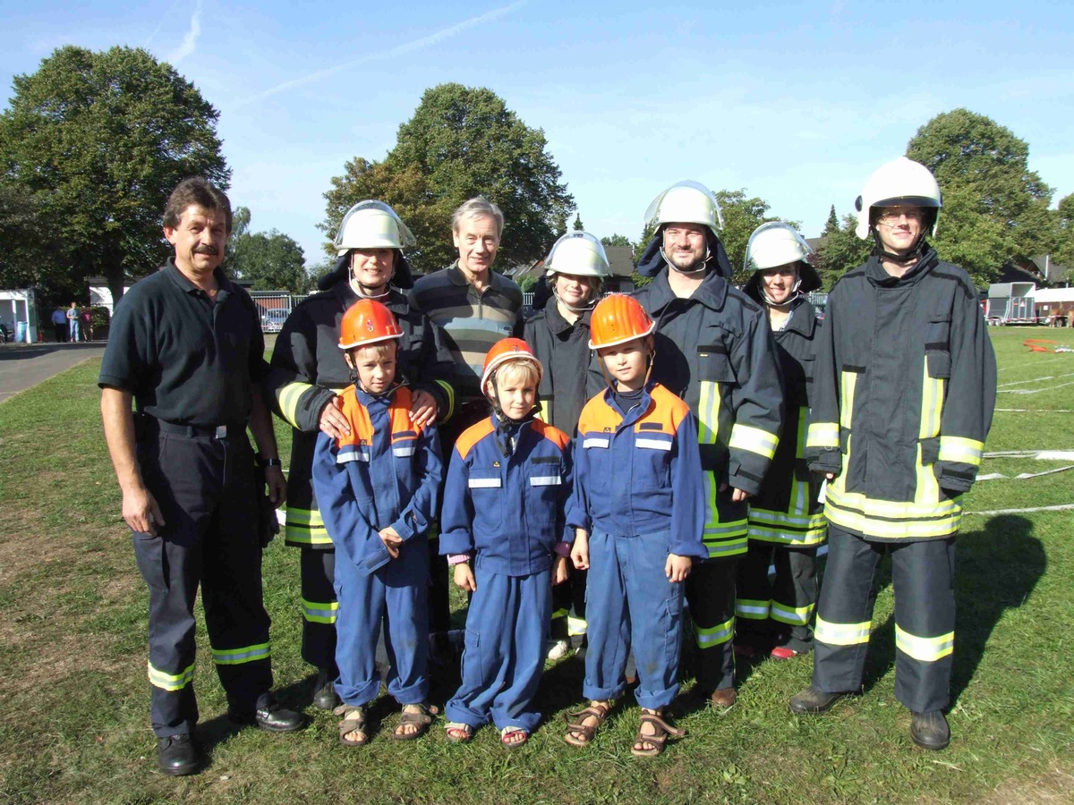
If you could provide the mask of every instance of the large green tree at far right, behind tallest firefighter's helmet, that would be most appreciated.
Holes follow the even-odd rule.
[[[934,245],[987,284],[1006,261],[1050,250],[1051,189],[1029,170],[1029,145],[991,118],[945,112],[917,130],[906,156],[935,175],[944,208]]]

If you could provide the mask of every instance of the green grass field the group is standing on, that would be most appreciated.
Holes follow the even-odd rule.
[[[1074,450],[1074,354],[1028,352],[1021,341],[1046,337],[1041,330],[990,332],[997,407],[1028,410],[998,411],[987,450]],[[866,696],[822,718],[786,708],[809,684],[810,660],[766,661],[740,668],[739,704],[725,717],[682,716],[690,735],[662,758],[629,756],[633,701],[595,746],[578,750],[562,742],[560,714],[578,703],[582,676],[567,659],[546,674],[547,720],[522,749],[502,748],[492,729],[470,745],[449,744],[442,721],[422,741],[393,742],[398,714],[383,700],[372,744],[345,749],[336,718],[308,706],[299,555],[277,541],[264,568],[276,682],[311,723],[289,735],[231,728],[202,627],[194,685],[211,762],[195,777],[165,778],[148,723],[146,591],[101,435],[98,366],[83,364],[0,406],[0,800],[1074,802],[1074,515],[973,514],[1074,503],[1074,470],[984,481],[967,498],[946,751],[913,746],[909,714],[895,699],[887,579]],[[982,471],[1013,477],[1068,464],[987,458]],[[438,689],[438,702],[450,692]]]

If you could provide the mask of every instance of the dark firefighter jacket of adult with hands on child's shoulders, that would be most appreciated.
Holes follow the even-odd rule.
[[[410,307],[405,294],[392,288],[380,299],[403,328],[396,380],[436,399],[439,419],[450,415],[453,394],[447,378],[450,355],[436,338],[434,325]],[[339,349],[339,321],[358,295],[342,275],[339,281],[299,303],[276,339],[271,371],[265,382],[273,409],[294,428],[291,469],[287,480],[288,545],[331,548],[332,540],[317,507],[311,466],[318,420],[324,405],[351,384],[351,371]],[[412,381],[418,382],[412,382]]]

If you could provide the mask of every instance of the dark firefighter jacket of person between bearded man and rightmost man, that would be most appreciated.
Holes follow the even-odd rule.
[[[760,494],[750,501],[752,540],[806,547],[824,542],[827,533],[824,504],[817,500],[821,477],[810,472],[804,458],[819,330],[816,308],[800,299],[783,330],[772,333],[783,376],[783,429]]]

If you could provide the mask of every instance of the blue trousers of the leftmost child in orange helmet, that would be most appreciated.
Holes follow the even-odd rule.
[[[397,559],[372,573],[343,556],[335,564],[335,688],[347,704],[362,705],[380,692],[377,638],[384,624],[388,692],[401,704],[429,696],[429,548],[424,539],[404,542]]]

